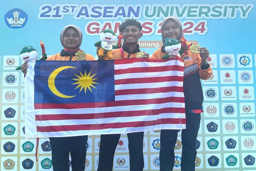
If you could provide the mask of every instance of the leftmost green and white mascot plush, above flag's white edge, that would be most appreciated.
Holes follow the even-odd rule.
[[[25,46],[25,47],[23,47],[22,50],[20,51],[20,55],[19,55],[19,57],[24,62],[28,62],[30,60],[37,60],[37,56],[38,56],[37,50],[33,46]],[[39,60],[45,60],[45,59],[47,59],[46,53]],[[18,66],[16,68],[16,70],[20,70],[20,67],[21,66]]]

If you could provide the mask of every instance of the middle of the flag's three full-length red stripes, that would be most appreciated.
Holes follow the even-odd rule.
[[[99,118],[114,118],[114,117],[129,117],[129,116],[150,116],[160,113],[185,113],[185,108],[166,107],[161,109],[140,110],[140,111],[119,111],[106,113],[88,113],[88,114],[48,114],[35,115],[36,121],[45,120],[70,120],[70,119],[99,119]]]

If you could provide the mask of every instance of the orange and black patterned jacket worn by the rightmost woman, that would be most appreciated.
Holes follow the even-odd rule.
[[[186,42],[189,45],[189,42]],[[157,49],[151,58],[162,59],[166,54],[164,48]],[[207,80],[211,77],[212,69],[210,65],[200,66],[201,57],[198,53],[192,53],[190,50],[187,54],[180,55],[184,62],[184,96],[186,113],[201,113],[202,102],[204,101],[203,91],[200,79]]]

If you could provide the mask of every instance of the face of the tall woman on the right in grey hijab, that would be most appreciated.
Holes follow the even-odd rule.
[[[169,19],[164,24],[163,34],[164,38],[177,39],[180,34],[179,26],[174,20]]]

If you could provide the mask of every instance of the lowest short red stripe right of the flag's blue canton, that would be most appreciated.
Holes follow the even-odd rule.
[[[125,89],[115,90],[115,95],[127,94],[150,94],[150,93],[165,93],[165,92],[183,92],[183,87],[159,87],[159,88],[145,88],[145,89]]]

